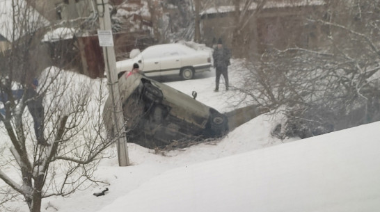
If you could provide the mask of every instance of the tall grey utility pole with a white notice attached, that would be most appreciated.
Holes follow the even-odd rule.
[[[119,166],[129,165],[127,138],[124,128],[124,115],[120,102],[118,87],[118,74],[116,73],[116,57],[113,49],[113,36],[111,29],[111,17],[109,15],[108,0],[95,0],[99,15],[100,30],[97,31],[100,46],[103,47],[104,67],[109,84],[109,95],[113,102],[113,122],[115,135],[118,137],[118,160]]]

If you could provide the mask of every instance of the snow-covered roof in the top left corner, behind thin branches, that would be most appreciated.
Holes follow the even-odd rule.
[[[13,15],[14,13],[17,15]],[[26,24],[25,20],[28,21]],[[47,24],[47,19],[27,6],[26,1],[0,0],[0,35],[8,41],[17,40],[30,29],[35,30]]]

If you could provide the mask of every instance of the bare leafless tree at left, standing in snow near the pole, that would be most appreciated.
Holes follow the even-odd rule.
[[[0,192],[13,190],[37,212],[43,198],[70,195],[97,182],[93,172],[113,140],[102,134],[102,81],[45,68],[53,62],[70,64],[58,64],[65,53],[42,44],[45,19],[19,1],[10,2],[11,45],[0,55],[0,129],[7,135],[0,158],[0,179],[7,186]],[[2,195],[0,203],[14,192]]]

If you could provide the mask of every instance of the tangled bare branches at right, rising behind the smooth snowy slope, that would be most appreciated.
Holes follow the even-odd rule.
[[[268,108],[283,108],[281,136],[306,138],[380,120],[379,1],[331,1],[318,49],[271,49],[251,70],[242,92]]]

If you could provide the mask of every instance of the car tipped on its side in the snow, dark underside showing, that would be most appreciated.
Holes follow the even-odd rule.
[[[219,137],[228,132],[225,115],[164,83],[141,74],[122,74],[118,86],[129,142],[155,148],[173,140]],[[103,118],[107,133],[115,137],[112,108],[109,97]]]

